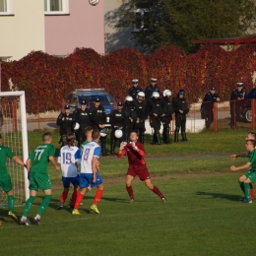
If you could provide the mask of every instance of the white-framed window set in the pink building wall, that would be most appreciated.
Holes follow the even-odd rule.
[[[44,14],[45,15],[69,14],[69,0],[44,0]]]

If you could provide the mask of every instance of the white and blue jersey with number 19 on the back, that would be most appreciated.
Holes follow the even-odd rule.
[[[80,158],[81,153],[77,146],[64,146],[60,149],[58,162],[61,164],[63,177],[76,177],[79,174],[76,162]]]

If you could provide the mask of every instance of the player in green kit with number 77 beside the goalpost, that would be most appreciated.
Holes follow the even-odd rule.
[[[30,177],[30,198],[26,202],[20,224],[30,225],[27,217],[32,208],[32,202],[36,197],[37,191],[38,189],[41,189],[44,193],[44,198],[41,202],[37,215],[33,219],[34,224],[40,224],[40,217],[48,207],[52,197],[51,182],[47,170],[48,162],[50,161],[57,171],[60,170],[60,167],[54,160],[55,148],[51,144],[52,138],[49,132],[43,134],[42,141],[43,144],[36,147],[27,160],[28,173]]]

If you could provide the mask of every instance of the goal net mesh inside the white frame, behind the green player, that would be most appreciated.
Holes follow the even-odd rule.
[[[10,148],[15,156],[24,160],[21,107],[19,106],[19,102],[19,96],[1,96],[0,132],[3,146]],[[26,201],[24,167],[9,158],[6,159],[6,165],[11,175],[15,204],[23,204]],[[0,189],[0,206],[7,207],[7,195],[1,187]]]

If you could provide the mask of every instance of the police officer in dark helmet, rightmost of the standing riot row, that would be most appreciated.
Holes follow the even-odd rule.
[[[185,91],[180,89],[177,96],[172,98],[172,107],[175,112],[174,142],[178,142],[178,133],[181,128],[182,141],[187,142],[186,136],[186,114],[189,112]]]

